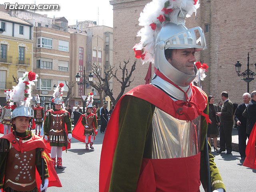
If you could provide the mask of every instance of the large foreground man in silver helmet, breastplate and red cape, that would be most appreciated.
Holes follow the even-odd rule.
[[[205,190],[225,191],[205,143],[210,122],[207,96],[192,84],[198,74],[194,54],[206,48],[203,30],[184,25],[187,12],[193,12],[187,9],[194,5],[197,0],[168,0],[164,5],[154,0],[146,5],[144,12],[160,10],[155,14],[160,14],[159,22],[150,24],[156,32],[155,74],[151,84],[133,88],[115,106],[102,144],[100,192],[198,192],[200,182]],[[143,23],[152,22],[152,17],[144,18],[150,20]],[[153,42],[144,36],[142,40],[142,48],[134,46],[134,51],[144,62],[150,61],[148,46]]]

